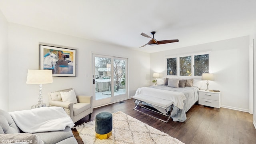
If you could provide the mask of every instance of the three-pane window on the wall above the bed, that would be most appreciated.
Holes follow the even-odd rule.
[[[167,58],[167,75],[202,76],[209,73],[209,61],[209,53]]]

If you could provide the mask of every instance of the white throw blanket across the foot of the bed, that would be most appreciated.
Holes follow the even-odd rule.
[[[171,100],[174,106],[177,106],[181,110],[184,107],[183,100],[186,100],[186,96],[182,92],[173,92],[169,90],[159,90],[155,88],[142,87],[136,90],[135,95],[144,94],[148,96],[153,96],[156,98],[161,98],[164,100]]]

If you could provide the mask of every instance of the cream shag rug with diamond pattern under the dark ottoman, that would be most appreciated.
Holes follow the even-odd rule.
[[[95,120],[74,128],[84,144],[184,144],[123,112],[113,114],[112,136],[105,140],[95,137]]]

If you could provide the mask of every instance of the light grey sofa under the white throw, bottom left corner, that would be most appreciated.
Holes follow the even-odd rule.
[[[12,142],[25,142],[24,144],[78,144],[71,128],[68,126],[65,130],[59,131],[24,133],[18,128],[8,112],[0,110],[0,143]]]

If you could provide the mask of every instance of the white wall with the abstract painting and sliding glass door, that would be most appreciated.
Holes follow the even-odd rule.
[[[53,78],[52,84],[43,84],[44,102],[48,102],[48,92],[65,88],[74,88],[78,95],[92,95],[92,52],[128,58],[129,96],[133,96],[137,88],[149,84],[148,53],[13,23],[9,23],[8,39],[9,111],[30,109],[37,104],[39,86],[26,84],[26,75],[28,69],[39,68],[39,42],[77,50],[77,76]]]

